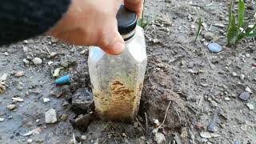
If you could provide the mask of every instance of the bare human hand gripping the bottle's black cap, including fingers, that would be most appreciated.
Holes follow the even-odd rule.
[[[125,0],[128,9],[142,13],[142,0]],[[122,0],[72,0],[64,17],[48,34],[80,46],[99,46],[107,54],[120,54],[125,42],[118,33],[116,14]]]

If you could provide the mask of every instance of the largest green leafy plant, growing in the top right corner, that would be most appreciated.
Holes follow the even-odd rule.
[[[238,22],[236,22],[235,14],[233,13],[234,3],[231,0],[230,2],[230,22],[227,30],[227,42],[228,45],[235,45],[243,38],[254,38],[256,37],[256,24],[250,25],[250,21],[245,24],[244,15],[245,15],[245,3],[243,0],[238,2]]]

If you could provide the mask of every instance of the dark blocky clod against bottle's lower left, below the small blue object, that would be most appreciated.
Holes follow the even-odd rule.
[[[83,110],[87,113],[94,108],[94,97],[90,90],[79,89],[72,95],[73,110]]]

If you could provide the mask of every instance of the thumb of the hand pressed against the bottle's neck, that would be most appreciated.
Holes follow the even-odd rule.
[[[109,26],[104,26],[102,30],[102,39],[98,45],[107,54],[118,55],[125,49],[125,42],[118,32],[118,22],[114,18]]]

